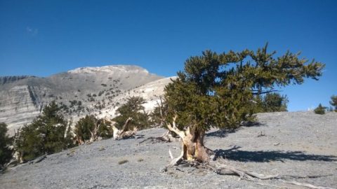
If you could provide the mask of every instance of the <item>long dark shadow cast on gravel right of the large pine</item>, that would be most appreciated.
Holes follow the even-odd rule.
[[[284,160],[296,161],[337,161],[337,156],[334,155],[315,155],[306,154],[303,151],[240,151],[239,146],[227,150],[216,150],[217,157],[223,157],[227,160],[235,160],[240,162],[271,162]]]

